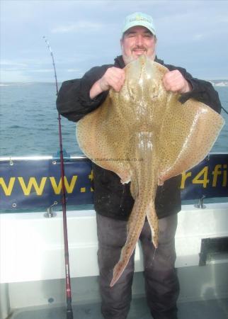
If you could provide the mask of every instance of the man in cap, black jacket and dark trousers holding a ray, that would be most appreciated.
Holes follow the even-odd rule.
[[[79,121],[98,108],[113,88],[120,91],[125,82],[124,67],[140,55],[164,65],[156,57],[156,31],[151,16],[133,13],[127,16],[120,40],[122,55],[114,65],[93,67],[79,80],[62,84],[57,99],[59,113],[70,121]],[[165,65],[169,72],[163,84],[167,91],[181,94],[183,103],[190,98],[209,105],[220,112],[220,100],[212,85],[193,78],[185,69]],[[184,107],[184,106],[183,106]],[[118,282],[110,288],[113,267],[120,257],[126,240],[127,219],[134,204],[130,184],[122,185],[113,172],[93,164],[94,206],[97,215],[98,265],[100,269],[101,311],[106,319],[124,319],[130,309],[131,286],[134,273],[134,254]],[[156,213],[159,217],[159,247],[154,257],[151,231],[145,220],[139,240],[144,253],[144,280],[147,303],[154,319],[176,319],[179,293],[174,269],[176,259],[174,237],[177,213],[181,210],[180,177],[159,186],[156,193]]]

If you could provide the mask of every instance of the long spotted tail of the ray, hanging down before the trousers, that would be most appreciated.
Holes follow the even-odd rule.
[[[127,266],[135,245],[142,231],[145,217],[149,220],[152,228],[152,242],[154,246],[158,246],[159,225],[154,208],[154,200],[157,189],[157,172],[156,165],[152,165],[156,161],[154,154],[154,141],[151,132],[137,132],[134,135],[135,158],[130,161],[131,177],[131,193],[135,198],[130,218],[127,223],[127,240],[122,247],[120,261],[115,265],[113,270],[113,279],[110,286],[114,286],[120,278],[122,272]],[[153,177],[153,178],[151,178]]]

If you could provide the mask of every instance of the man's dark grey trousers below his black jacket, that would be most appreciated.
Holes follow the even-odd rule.
[[[127,222],[97,214],[98,265],[100,269],[101,312],[105,319],[125,319],[132,299],[134,254],[117,283],[110,288],[113,267],[125,244]],[[144,254],[144,281],[147,303],[154,319],[177,319],[179,294],[174,237],[177,215],[159,220],[159,247],[154,254],[149,223],[145,221],[139,237]]]

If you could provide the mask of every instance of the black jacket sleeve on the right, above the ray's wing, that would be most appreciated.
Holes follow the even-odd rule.
[[[179,99],[181,103],[185,103],[188,99],[195,99],[207,104],[217,113],[221,113],[221,103],[219,95],[210,82],[192,77],[190,73],[186,72],[186,69],[183,69],[181,67],[174,67],[173,65],[166,65],[166,67],[168,67],[170,71],[172,71],[173,69],[178,69],[183,77],[193,87],[192,91],[181,94],[181,98]]]

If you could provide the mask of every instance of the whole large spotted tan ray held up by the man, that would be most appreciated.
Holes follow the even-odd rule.
[[[106,101],[82,118],[76,135],[81,150],[93,162],[131,181],[135,199],[127,223],[127,240],[113,270],[113,286],[129,262],[145,217],[152,242],[159,245],[154,208],[157,185],[198,164],[210,151],[224,120],[203,103],[167,92],[166,67],[143,55],[125,67],[125,84],[112,89]],[[152,244],[152,245],[153,245]]]

